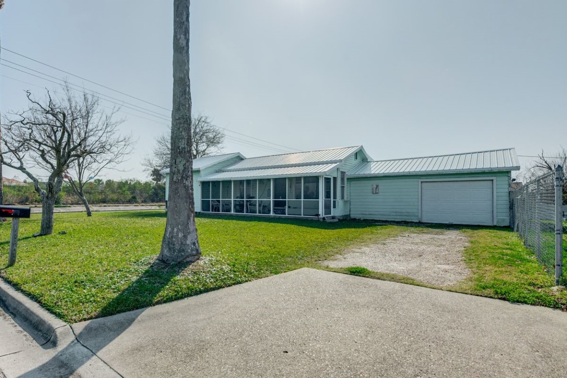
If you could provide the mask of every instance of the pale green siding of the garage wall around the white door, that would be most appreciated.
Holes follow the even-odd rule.
[[[414,175],[396,177],[349,178],[350,216],[362,219],[380,219],[418,222],[420,180],[430,179],[496,179],[496,225],[510,225],[510,172],[468,173],[453,175]],[[379,185],[379,194],[372,194],[371,186]]]

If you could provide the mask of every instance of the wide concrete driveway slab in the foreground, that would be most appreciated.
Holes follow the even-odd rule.
[[[567,313],[312,269],[72,328],[124,377],[567,376]]]

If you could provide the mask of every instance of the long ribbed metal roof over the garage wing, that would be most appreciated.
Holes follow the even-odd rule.
[[[351,169],[348,176],[399,176],[418,173],[519,171],[519,169],[520,163],[515,148],[504,148],[454,155],[366,162]]]

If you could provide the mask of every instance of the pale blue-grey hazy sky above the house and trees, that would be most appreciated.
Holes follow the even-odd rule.
[[[2,50],[160,114],[122,108],[136,151],[103,179],[145,177],[139,160],[167,130],[172,4],[6,0],[0,12],[3,48],[162,107]],[[552,155],[567,147],[566,14],[565,1],[194,0],[193,111],[280,145],[227,131],[223,151],[245,156],[352,145],[375,160],[503,147]],[[24,90],[54,86],[6,66],[0,75],[2,112],[26,107]]]

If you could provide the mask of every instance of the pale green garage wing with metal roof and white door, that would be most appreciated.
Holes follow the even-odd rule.
[[[369,161],[351,169],[351,218],[510,225],[514,148]]]

